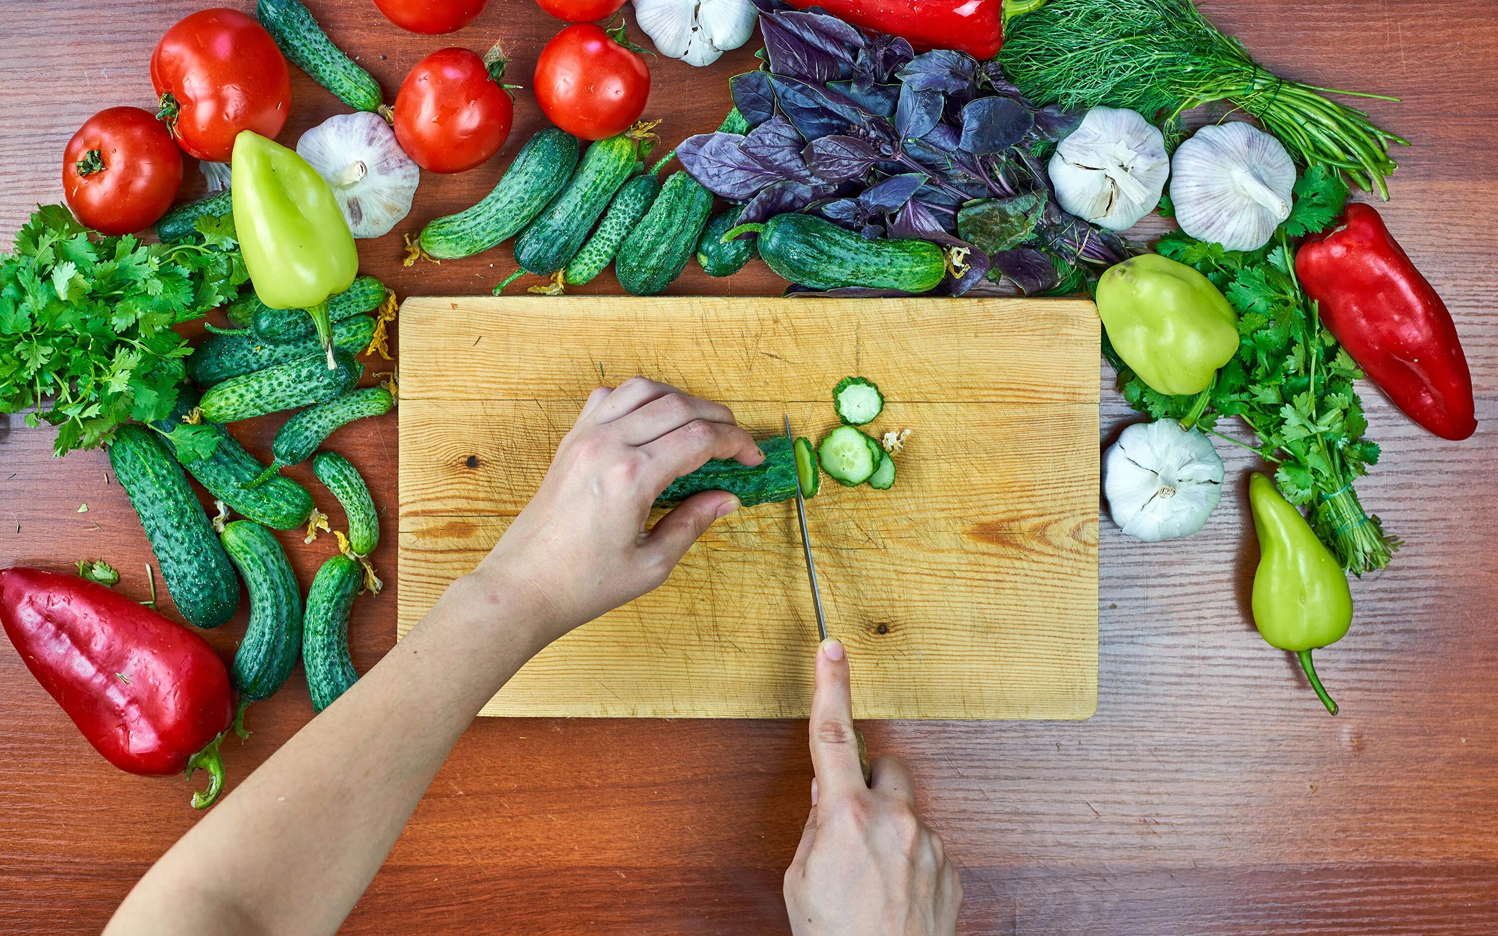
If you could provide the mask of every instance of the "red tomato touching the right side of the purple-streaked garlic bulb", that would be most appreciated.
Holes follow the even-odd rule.
[[[431,172],[463,172],[505,145],[515,102],[469,49],[437,49],[416,63],[395,94],[395,139]]]

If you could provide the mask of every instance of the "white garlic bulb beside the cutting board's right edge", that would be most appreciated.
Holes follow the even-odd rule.
[[[1124,430],[1103,460],[1103,494],[1125,535],[1159,542],[1200,530],[1222,499],[1212,440],[1174,419]]]

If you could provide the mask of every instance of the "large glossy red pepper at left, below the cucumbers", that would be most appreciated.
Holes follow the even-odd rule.
[[[192,804],[213,804],[234,699],[208,641],[100,584],[42,569],[0,571],[0,624],[105,759],[145,776],[202,767],[208,789]]]

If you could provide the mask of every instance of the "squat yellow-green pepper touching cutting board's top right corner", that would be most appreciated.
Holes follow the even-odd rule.
[[[1237,353],[1237,313],[1222,292],[1158,253],[1109,268],[1097,301],[1113,350],[1156,392],[1200,394]]]

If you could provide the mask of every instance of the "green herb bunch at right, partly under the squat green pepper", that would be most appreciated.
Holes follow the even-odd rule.
[[[1161,255],[1212,280],[1239,314],[1242,343],[1200,397],[1167,397],[1134,376],[1104,341],[1129,404],[1156,419],[1171,418],[1216,433],[1221,416],[1240,418],[1258,436],[1254,448],[1278,466],[1275,482],[1294,505],[1309,506],[1317,536],[1356,575],[1383,569],[1399,542],[1386,535],[1357,499],[1353,482],[1378,461],[1363,439],[1368,421],[1353,382],[1362,371],[1321,326],[1294,271],[1291,238],[1321,231],[1347,202],[1341,174],[1312,166],[1296,183],[1296,202],[1270,243],[1254,252],[1224,250],[1185,234],[1167,234]]]

